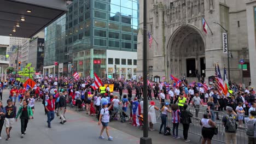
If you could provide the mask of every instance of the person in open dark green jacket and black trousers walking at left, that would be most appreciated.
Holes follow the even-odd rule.
[[[21,137],[24,137],[24,134],[26,134],[28,119],[32,118],[32,116],[33,116],[31,107],[28,106],[27,104],[28,104],[28,101],[23,100],[23,105],[20,106],[19,111],[16,115],[16,122],[18,121],[18,117],[20,117]]]

